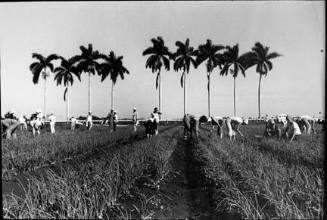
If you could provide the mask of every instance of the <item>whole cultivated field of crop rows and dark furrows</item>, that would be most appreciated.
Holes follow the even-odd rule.
[[[321,128],[292,143],[254,138],[260,124],[241,130],[233,143],[205,125],[184,140],[169,123],[152,139],[98,126],[3,140],[3,217],[323,218]]]

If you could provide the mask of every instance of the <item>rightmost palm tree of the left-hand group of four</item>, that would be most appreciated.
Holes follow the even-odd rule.
[[[110,51],[108,56],[101,55],[104,63],[100,64],[101,82],[110,75],[111,79],[111,109],[114,108],[114,85],[117,82],[118,76],[124,80],[124,73],[129,74],[129,71],[123,66],[123,56],[117,57],[113,51]]]

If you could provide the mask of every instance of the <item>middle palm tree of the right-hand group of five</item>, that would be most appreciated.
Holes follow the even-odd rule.
[[[212,44],[210,39],[207,39],[206,44],[199,46],[196,51],[196,64],[200,65],[202,62],[207,61],[207,78],[208,78],[208,117],[210,118],[210,75],[214,68],[221,66],[222,55],[218,51],[224,49],[222,45]]]

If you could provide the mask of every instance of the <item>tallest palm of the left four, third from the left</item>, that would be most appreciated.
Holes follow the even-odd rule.
[[[91,112],[91,74],[98,73],[99,63],[96,61],[100,58],[100,54],[97,50],[93,50],[92,44],[88,45],[88,48],[80,46],[82,51],[81,55],[76,56],[77,59],[77,69],[79,73],[88,73],[89,75],[89,103],[88,111]]]

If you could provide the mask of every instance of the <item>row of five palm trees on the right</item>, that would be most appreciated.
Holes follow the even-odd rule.
[[[143,56],[150,55],[146,61],[146,68],[150,68],[153,73],[157,73],[156,89],[159,87],[159,110],[161,110],[161,68],[170,70],[170,60],[174,62],[174,70],[182,71],[181,86],[184,87],[184,114],[186,113],[186,76],[189,73],[190,66],[197,68],[200,64],[205,63],[207,69],[207,90],[208,90],[208,116],[210,118],[210,79],[211,73],[219,67],[221,76],[227,76],[229,73],[234,79],[234,116],[236,116],[235,88],[236,77],[239,72],[245,77],[245,71],[250,67],[256,66],[256,72],[259,73],[258,87],[258,109],[260,112],[260,86],[262,76],[272,70],[273,64],[271,59],[281,56],[277,52],[269,53],[269,47],[264,47],[260,42],[255,43],[252,50],[244,54],[239,54],[238,44],[233,47],[213,44],[207,39],[205,44],[199,45],[194,50],[190,46],[190,40],[186,39],[185,43],[176,42],[177,51],[172,53],[165,46],[162,37],[151,39],[153,46],[143,51]]]

